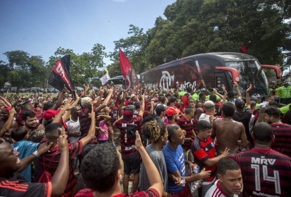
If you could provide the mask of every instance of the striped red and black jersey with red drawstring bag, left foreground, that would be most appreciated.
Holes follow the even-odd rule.
[[[44,137],[38,144],[38,146],[42,143],[46,143],[47,139]],[[80,155],[82,153],[82,148],[83,148],[83,143],[82,141],[77,141],[74,143],[68,143],[68,150],[69,150],[69,177],[67,184],[65,186],[65,197],[70,197],[73,189],[76,185],[76,177],[74,175],[74,170],[73,170],[73,163],[72,160]],[[49,171],[50,174],[53,176],[55,171],[57,170],[57,167],[60,163],[60,158],[61,158],[61,152],[59,151],[59,147],[56,146],[52,149],[50,149],[50,152],[44,153],[42,156],[38,158],[38,162],[41,168],[41,171],[44,171],[44,166],[45,170]],[[44,163],[45,164],[44,164]],[[50,167],[49,167],[50,165]],[[48,169],[49,167],[49,169]]]

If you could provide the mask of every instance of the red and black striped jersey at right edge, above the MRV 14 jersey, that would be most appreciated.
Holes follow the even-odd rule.
[[[271,124],[271,126],[275,135],[275,142],[271,148],[291,157],[291,125],[280,123]]]

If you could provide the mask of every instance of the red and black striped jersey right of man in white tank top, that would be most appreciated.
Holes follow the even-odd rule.
[[[88,109],[82,108],[81,110],[82,112],[79,116],[80,131],[81,131],[80,139],[87,136],[90,126],[91,126],[91,118],[89,118],[88,116]],[[97,142],[97,138],[96,136],[94,136],[93,139],[90,141],[90,143],[96,143],[96,142]]]

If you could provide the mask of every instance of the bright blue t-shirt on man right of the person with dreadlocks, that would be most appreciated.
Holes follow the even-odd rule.
[[[179,145],[177,150],[173,150],[169,143],[165,145],[162,149],[164,159],[167,166],[167,171],[173,173],[179,170],[181,176],[186,175],[185,161],[182,146]],[[168,179],[168,192],[176,194],[183,190],[184,187],[178,187],[175,182],[171,179]]]

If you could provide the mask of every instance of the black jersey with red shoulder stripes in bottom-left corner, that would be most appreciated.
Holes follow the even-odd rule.
[[[30,183],[23,176],[14,173],[13,177],[0,181],[1,197],[50,197],[52,183]]]

